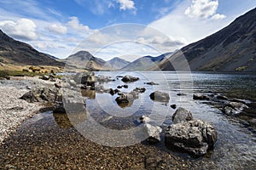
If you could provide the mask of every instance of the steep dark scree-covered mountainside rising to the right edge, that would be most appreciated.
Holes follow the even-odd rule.
[[[182,55],[189,61],[191,71],[256,72],[256,8],[211,36],[183,47],[162,61],[160,69],[173,70],[170,61],[173,63]]]

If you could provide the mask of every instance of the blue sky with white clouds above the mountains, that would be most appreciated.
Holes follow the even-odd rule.
[[[0,0],[0,29],[64,59],[157,56],[196,42],[256,7],[255,0]]]

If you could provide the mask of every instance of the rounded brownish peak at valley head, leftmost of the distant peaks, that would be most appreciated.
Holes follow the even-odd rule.
[[[69,55],[66,59],[67,65],[86,70],[108,70],[106,61],[94,57],[88,51],[79,51],[76,54]]]

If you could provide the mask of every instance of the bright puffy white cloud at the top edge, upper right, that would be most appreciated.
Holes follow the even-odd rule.
[[[203,18],[212,20],[224,19],[224,14],[216,14],[218,0],[193,0],[192,5],[185,10],[185,14],[190,18]]]

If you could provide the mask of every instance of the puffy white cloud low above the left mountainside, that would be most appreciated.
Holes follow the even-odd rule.
[[[23,40],[36,40],[36,25],[32,20],[20,19],[15,21],[3,20],[0,21],[0,28],[9,34],[11,37]]]

